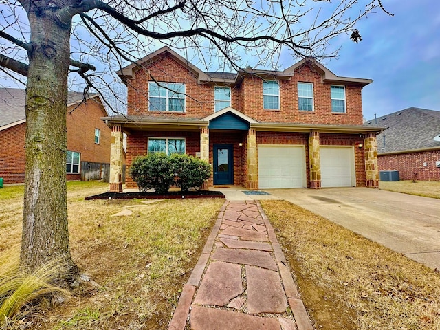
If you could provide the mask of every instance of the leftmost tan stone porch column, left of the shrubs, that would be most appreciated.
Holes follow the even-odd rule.
[[[111,129],[110,144],[110,192],[122,192],[122,127]]]

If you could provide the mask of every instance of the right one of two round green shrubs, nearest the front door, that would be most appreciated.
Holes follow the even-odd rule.
[[[170,156],[170,161],[181,191],[199,189],[211,175],[210,164],[196,157],[175,153]]]

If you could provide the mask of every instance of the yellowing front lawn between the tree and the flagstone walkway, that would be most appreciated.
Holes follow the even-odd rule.
[[[101,287],[78,287],[61,307],[25,318],[27,329],[168,329],[224,199],[84,200],[106,190],[67,185],[72,257]],[[15,197],[0,210],[0,254],[19,251],[22,202]],[[133,214],[111,217],[124,208]]]

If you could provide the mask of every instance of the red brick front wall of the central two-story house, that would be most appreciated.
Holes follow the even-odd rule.
[[[320,68],[322,70],[322,68]],[[164,52],[155,57],[150,63],[140,69],[133,70],[132,75],[125,76],[128,87],[128,115],[144,118],[141,122],[148,122],[151,118],[151,126],[154,120],[176,120],[190,122],[191,120],[203,120],[214,113],[214,86],[223,85],[231,87],[231,107],[239,113],[252,118],[257,123],[267,124],[307,124],[333,125],[333,126],[360,126],[360,133],[344,132],[325,133],[320,132],[320,145],[323,146],[352,146],[355,159],[356,186],[366,185],[365,154],[362,133],[362,83],[355,78],[347,78],[347,81],[323,78],[322,72],[315,69],[314,65],[305,62],[294,69],[293,74],[277,76],[265,76],[264,80],[277,80],[280,87],[280,109],[263,109],[263,78],[248,73],[240,73],[241,77],[234,83],[228,80],[226,83],[200,82],[197,69],[191,65],[183,65],[173,54]],[[269,78],[268,78],[269,77]],[[272,78],[271,78],[272,77]],[[277,78],[278,77],[278,78]],[[185,112],[148,111],[148,82],[150,80],[163,83],[184,83],[186,88]],[[328,81],[332,81],[329,83]],[[334,83],[340,81],[340,83]],[[314,91],[314,111],[298,110],[298,83],[312,83]],[[367,85],[366,83],[365,85]],[[345,113],[332,113],[331,111],[331,86],[343,85],[345,91]],[[252,125],[252,124],[251,124]],[[157,126],[159,127],[159,126]],[[175,127],[175,126],[173,126]],[[139,127],[126,126],[129,132],[127,139],[127,164],[131,164],[137,155],[147,153],[148,137],[182,137],[186,139],[186,153],[196,155],[200,151],[200,132],[198,126],[192,126],[187,131],[184,127],[167,129],[162,124],[159,130],[152,131]],[[296,144],[305,146],[305,168],[309,168],[309,130],[302,132],[270,131],[256,129],[256,143],[258,144]],[[213,150],[215,144],[229,144],[234,150],[234,185],[248,187],[248,131],[239,130],[209,130],[209,162],[213,163]],[[242,144],[240,146],[240,144]],[[310,173],[307,172],[307,186],[310,187]],[[212,177],[208,186],[212,186]],[[126,188],[135,188],[136,184],[129,175],[126,176]]]

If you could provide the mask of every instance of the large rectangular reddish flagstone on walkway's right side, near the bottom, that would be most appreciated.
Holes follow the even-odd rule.
[[[248,283],[248,311],[256,313],[283,313],[287,299],[278,272],[246,266]]]

